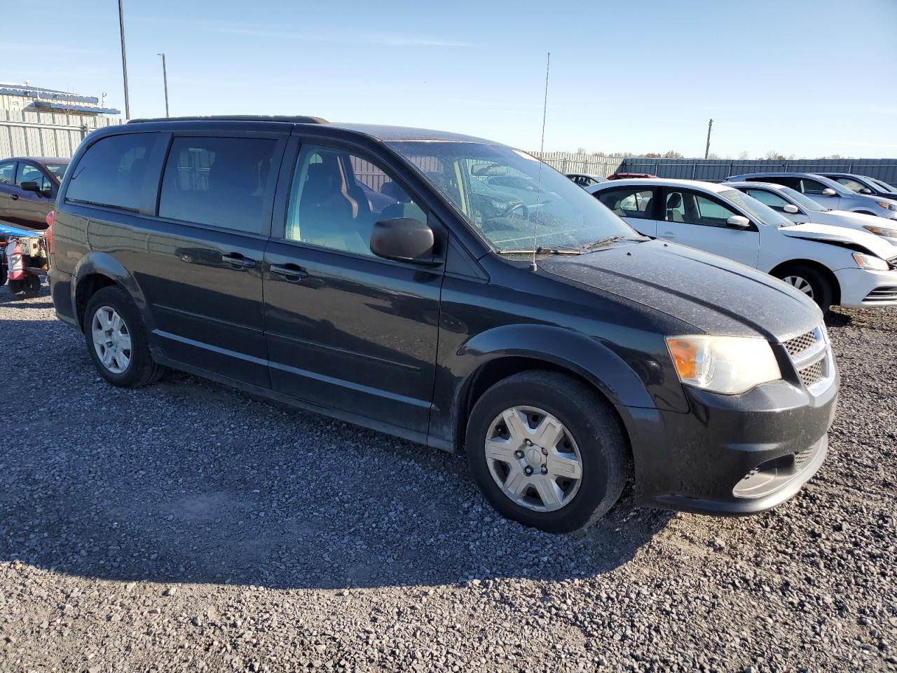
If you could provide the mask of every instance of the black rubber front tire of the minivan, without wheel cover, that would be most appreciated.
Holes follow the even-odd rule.
[[[579,448],[579,489],[560,509],[535,511],[519,504],[492,476],[486,438],[493,421],[515,406],[536,407],[553,415]],[[467,422],[466,454],[476,485],[496,510],[549,533],[588,528],[614,506],[626,481],[627,442],[611,406],[583,381],[554,371],[525,371],[486,390]]]

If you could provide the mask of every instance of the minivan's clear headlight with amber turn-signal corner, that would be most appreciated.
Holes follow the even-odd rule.
[[[738,395],[782,378],[766,339],[759,337],[666,337],[666,347],[683,383]]]

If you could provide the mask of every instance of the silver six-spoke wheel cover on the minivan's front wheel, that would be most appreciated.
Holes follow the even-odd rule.
[[[543,409],[512,406],[497,415],[486,434],[485,454],[502,493],[529,510],[560,510],[579,492],[579,447]]]

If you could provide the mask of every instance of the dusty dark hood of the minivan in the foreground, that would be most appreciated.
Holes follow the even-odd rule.
[[[823,321],[814,302],[771,275],[660,240],[543,258],[539,269],[663,311],[706,334],[780,341]]]

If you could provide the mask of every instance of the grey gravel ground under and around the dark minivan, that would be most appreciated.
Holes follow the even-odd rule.
[[[463,459],[170,373],[0,289],[0,670],[897,670],[897,310],[839,310],[830,455],[775,511],[502,520]]]

